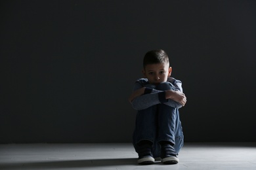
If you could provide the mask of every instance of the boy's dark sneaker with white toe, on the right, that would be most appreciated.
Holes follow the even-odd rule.
[[[177,158],[177,152],[171,146],[171,144],[163,144],[161,146],[161,162],[165,164],[177,164],[179,159]]]

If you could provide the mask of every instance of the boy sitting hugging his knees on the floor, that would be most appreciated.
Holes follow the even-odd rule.
[[[183,146],[179,108],[186,104],[181,81],[170,77],[172,68],[163,50],[151,50],[143,59],[145,78],[135,82],[129,101],[137,112],[133,146],[138,163],[148,165],[161,157],[162,163],[179,162]]]

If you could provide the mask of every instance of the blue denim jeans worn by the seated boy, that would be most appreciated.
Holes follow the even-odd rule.
[[[160,87],[156,86],[155,88],[157,90],[173,90],[173,85],[164,82]],[[152,153],[154,158],[161,155],[160,141],[169,141],[173,144],[176,152],[179,153],[184,143],[179,109],[161,103],[139,110],[133,133],[133,146],[136,152],[140,147],[138,143],[144,140],[153,143]]]

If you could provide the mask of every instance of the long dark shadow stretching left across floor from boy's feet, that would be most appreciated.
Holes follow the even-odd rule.
[[[57,169],[57,168],[89,168],[138,165],[137,158],[120,158],[104,160],[54,160],[1,163],[0,169]]]

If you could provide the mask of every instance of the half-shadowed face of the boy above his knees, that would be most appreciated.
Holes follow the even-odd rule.
[[[160,84],[160,82],[166,82],[168,76],[171,76],[171,70],[168,63],[156,63],[146,65],[142,73],[148,78],[150,84]]]

